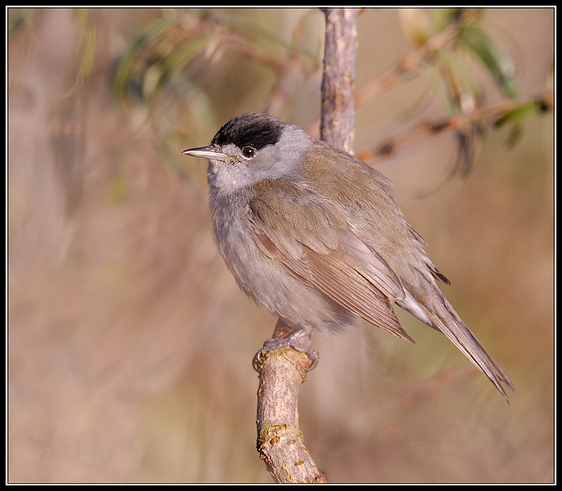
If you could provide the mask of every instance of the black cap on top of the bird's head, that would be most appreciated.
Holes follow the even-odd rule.
[[[211,144],[219,146],[234,143],[243,148],[247,145],[256,150],[274,145],[281,137],[284,123],[268,114],[250,112],[236,116],[218,130]]]

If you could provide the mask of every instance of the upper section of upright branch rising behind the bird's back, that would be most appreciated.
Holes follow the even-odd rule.
[[[357,8],[322,8],[326,17],[320,139],[353,153]]]

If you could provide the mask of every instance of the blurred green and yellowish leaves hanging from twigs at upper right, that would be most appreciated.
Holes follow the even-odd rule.
[[[499,93],[508,100],[519,95],[514,62],[482,25],[481,8],[405,8],[400,10],[403,29],[414,47],[426,46],[431,40],[450,29],[452,35],[443,46],[421,63],[419,69],[431,88],[434,97],[448,117],[470,114],[486,105],[490,89],[479,79],[481,65]],[[488,96],[489,97],[489,96]],[[541,101],[523,102],[515,109],[498,109],[493,115],[495,126],[511,126],[509,144],[514,144],[521,134],[528,109],[541,107]],[[493,122],[493,121],[492,121]],[[458,142],[458,159],[455,170],[466,173],[476,159],[476,149],[486,135],[488,119],[468,121],[455,128]]]

